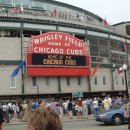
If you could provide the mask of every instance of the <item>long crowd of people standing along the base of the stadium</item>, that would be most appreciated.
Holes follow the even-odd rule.
[[[37,100],[34,101],[9,101],[3,103],[1,108],[4,113],[4,119],[6,123],[10,122],[10,119],[19,119],[21,121],[27,121],[27,115],[29,110],[40,108],[51,108],[59,117],[62,119],[64,116],[72,119],[73,115],[77,116],[77,118],[87,118],[87,115],[96,115],[100,111],[109,110],[114,108],[122,102],[126,100],[125,97],[113,96],[109,95],[100,98],[77,98],[72,101],[71,98],[67,100],[62,99],[41,99],[39,102]]]

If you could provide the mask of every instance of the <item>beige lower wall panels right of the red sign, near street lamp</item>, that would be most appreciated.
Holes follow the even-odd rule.
[[[114,80],[114,91],[125,90],[125,85],[122,85],[122,74],[117,74],[117,70],[113,72],[113,79],[115,77],[118,80],[118,85],[116,85],[116,79]],[[117,75],[117,76],[116,76]],[[105,92],[112,91],[112,72],[108,68],[100,68],[98,69],[96,75],[97,77],[97,85],[94,84],[94,77],[91,80],[91,90],[93,92]],[[103,76],[106,76],[106,85],[103,85]]]

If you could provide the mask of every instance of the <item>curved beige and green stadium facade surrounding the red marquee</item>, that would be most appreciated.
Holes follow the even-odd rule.
[[[48,70],[45,74],[46,67],[42,65],[38,71],[36,65],[34,70],[29,70],[27,50],[31,36],[58,32],[84,41],[90,56],[90,73],[89,70],[86,74],[76,73],[78,67],[74,65],[71,71],[67,66],[62,71],[55,68],[54,75]],[[22,61],[26,65],[18,68]],[[70,97],[78,92],[84,97],[122,96],[127,93],[125,75],[118,74],[123,63],[128,66],[129,86],[130,22],[110,25],[89,11],[52,0],[0,1],[0,99]],[[92,76],[97,65],[97,72]],[[20,71],[12,76],[16,68]]]

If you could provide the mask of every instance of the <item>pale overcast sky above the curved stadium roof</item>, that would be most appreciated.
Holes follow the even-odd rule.
[[[83,8],[111,25],[130,21],[130,0],[56,0]]]

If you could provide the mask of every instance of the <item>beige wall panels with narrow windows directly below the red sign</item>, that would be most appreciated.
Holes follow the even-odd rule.
[[[59,93],[58,77],[49,77],[50,84],[46,86],[45,77],[36,77],[37,85],[39,85],[39,93]],[[86,77],[82,77],[81,85],[78,86],[77,77],[70,77],[70,86],[67,86],[66,77],[60,77],[61,93],[72,92],[88,92],[88,81]],[[25,94],[37,94],[37,86],[32,86],[32,77],[26,77],[24,80]]]

